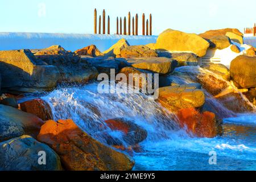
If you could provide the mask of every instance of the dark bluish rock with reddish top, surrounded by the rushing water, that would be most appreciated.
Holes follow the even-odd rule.
[[[111,130],[121,131],[120,140],[125,141],[128,146],[135,146],[147,138],[147,131],[129,119],[114,118],[106,120],[105,123]]]

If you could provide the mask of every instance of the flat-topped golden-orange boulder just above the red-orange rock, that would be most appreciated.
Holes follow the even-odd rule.
[[[204,105],[204,92],[200,89],[187,88],[187,85],[166,86],[156,90],[158,101],[170,111],[201,107]]]

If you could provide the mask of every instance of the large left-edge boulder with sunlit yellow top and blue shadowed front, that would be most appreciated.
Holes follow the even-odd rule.
[[[2,88],[20,92],[49,90],[60,78],[52,65],[39,65],[30,50],[0,51]]]

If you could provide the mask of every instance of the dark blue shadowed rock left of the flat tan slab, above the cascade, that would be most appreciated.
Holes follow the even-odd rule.
[[[82,61],[86,61],[92,67],[95,67],[98,73],[106,73],[110,75],[110,69],[115,70],[115,74],[119,72],[119,64],[114,57],[88,57],[82,56]]]

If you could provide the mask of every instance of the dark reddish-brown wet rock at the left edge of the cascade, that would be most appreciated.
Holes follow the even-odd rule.
[[[26,113],[36,115],[43,121],[53,119],[51,107],[40,98],[20,103],[20,109]]]

